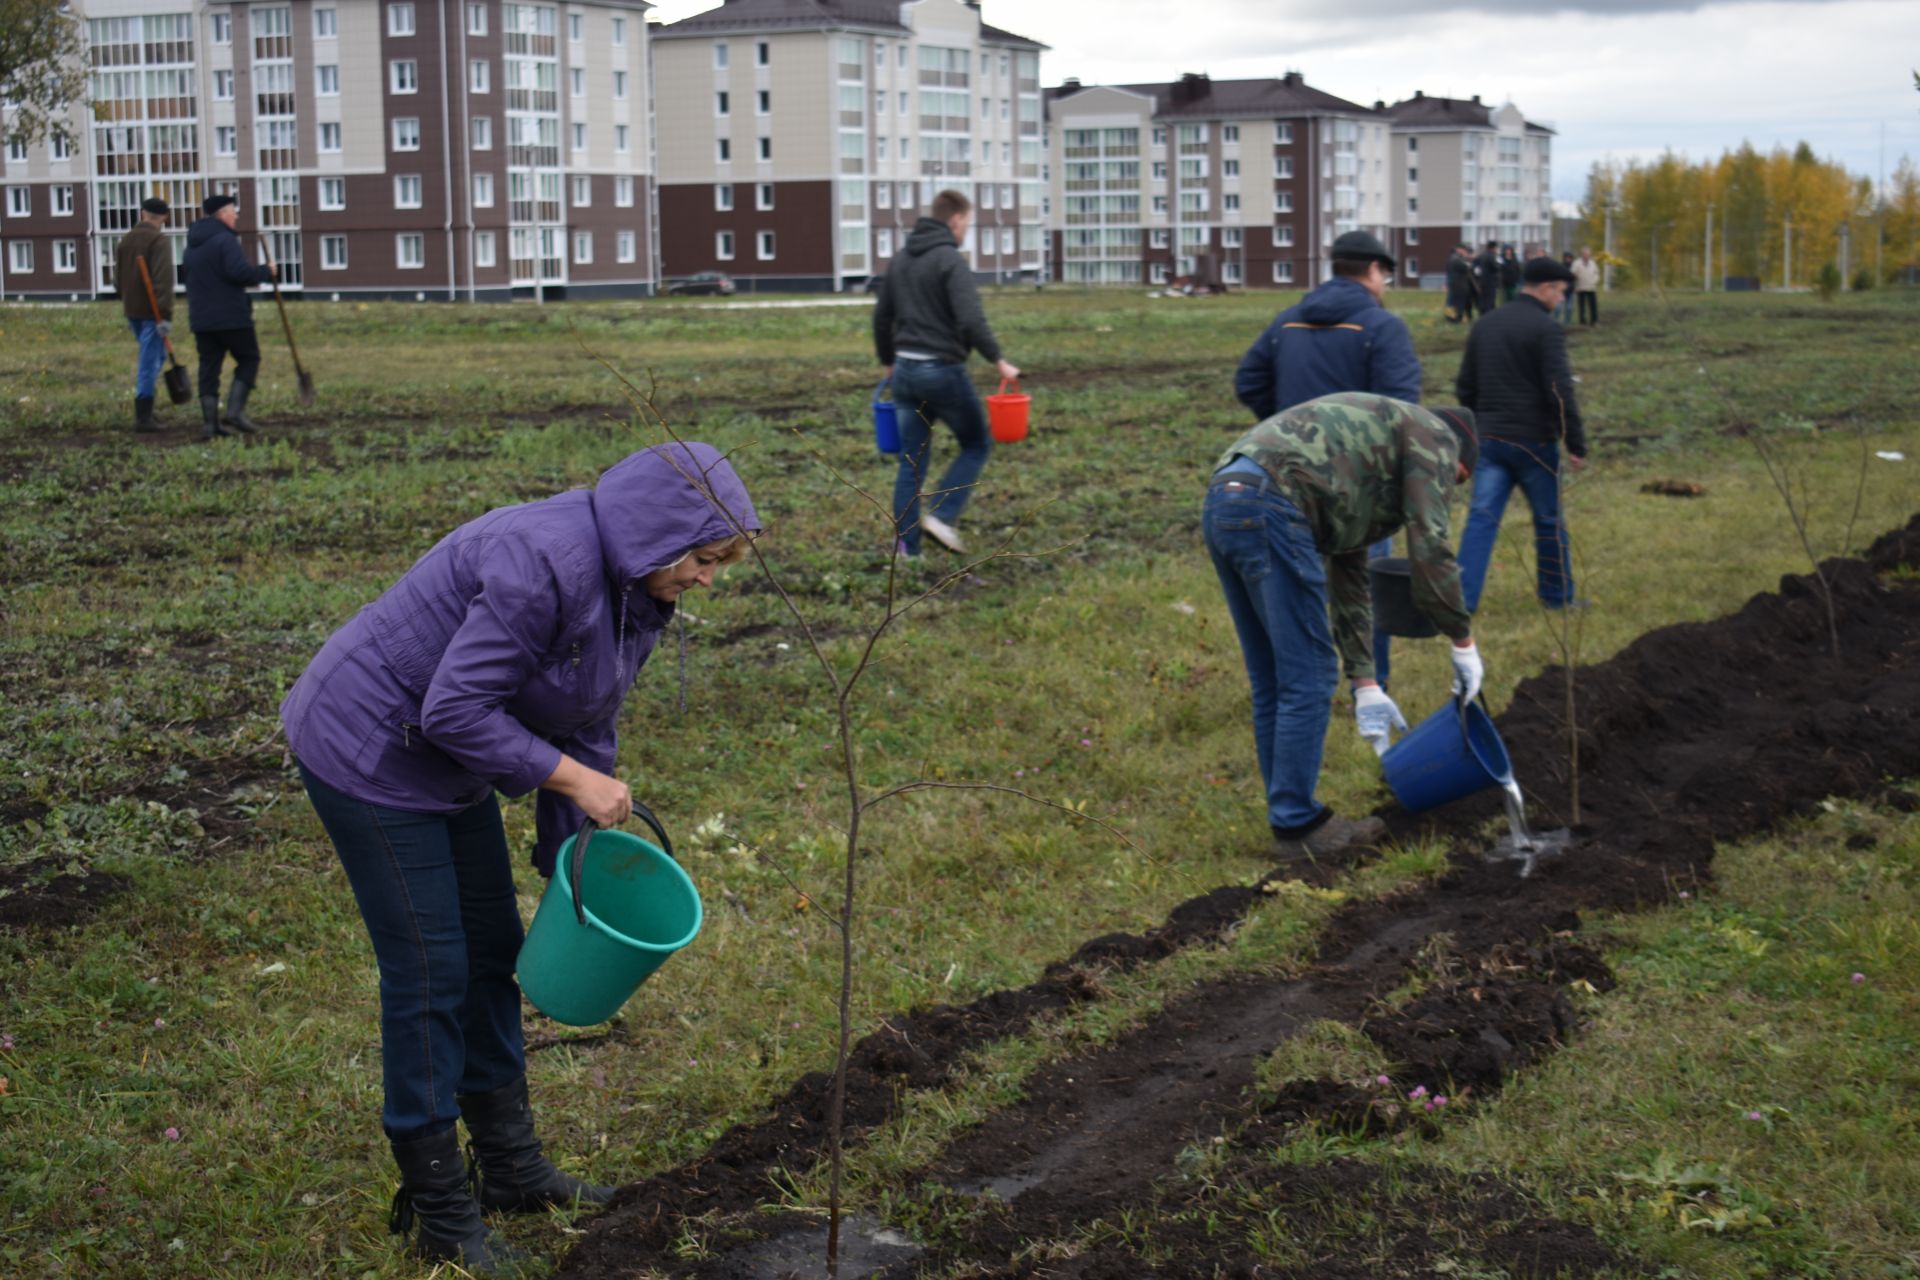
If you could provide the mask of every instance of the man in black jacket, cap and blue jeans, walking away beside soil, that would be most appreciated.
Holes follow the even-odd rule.
[[[1459,539],[1459,578],[1469,612],[1480,606],[1494,539],[1507,499],[1519,486],[1534,510],[1534,557],[1540,603],[1578,608],[1572,560],[1561,520],[1561,445],[1567,466],[1586,466],[1586,428],[1572,393],[1567,334],[1553,307],[1567,296],[1572,271],[1551,257],[1526,263],[1526,286],[1513,305],[1488,315],[1467,334],[1467,353],[1453,388],[1480,428],[1480,466],[1473,474],[1473,509]]]

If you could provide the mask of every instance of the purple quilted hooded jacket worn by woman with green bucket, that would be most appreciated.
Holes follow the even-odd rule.
[[[328,787],[424,814],[526,794],[561,752],[611,771],[620,702],[674,616],[641,578],[735,526],[760,528],[705,443],[641,449],[593,489],[490,510],[328,637],[280,704],[286,743]],[[582,818],[540,793],[543,875]]]

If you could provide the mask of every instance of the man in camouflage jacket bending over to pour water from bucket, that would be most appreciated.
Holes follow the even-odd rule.
[[[1473,413],[1342,391],[1296,405],[1219,457],[1202,530],[1254,685],[1254,747],[1283,858],[1379,841],[1379,818],[1313,798],[1340,666],[1361,735],[1384,752],[1405,729],[1373,677],[1367,547],[1407,530],[1413,603],[1453,641],[1453,691],[1480,693],[1448,535],[1448,495],[1478,457]],[[1331,604],[1331,626],[1329,626]]]

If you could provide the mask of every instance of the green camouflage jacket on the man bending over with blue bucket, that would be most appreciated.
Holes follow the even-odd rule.
[[[1373,677],[1373,593],[1367,547],[1402,526],[1413,560],[1413,603],[1453,639],[1469,635],[1448,495],[1459,445],[1419,405],[1340,391],[1279,413],[1219,457],[1248,457],[1300,507],[1327,557],[1332,637],[1348,679]]]

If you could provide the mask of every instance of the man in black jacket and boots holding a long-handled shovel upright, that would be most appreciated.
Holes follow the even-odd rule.
[[[278,276],[273,267],[255,267],[240,249],[234,223],[240,205],[232,196],[207,196],[200,201],[205,215],[186,230],[186,257],[180,274],[186,276],[186,307],[194,326],[194,345],[200,347],[200,415],[202,436],[232,436],[227,428],[257,432],[259,424],[246,416],[246,397],[253,393],[259,376],[259,338],[253,336],[253,299],[248,290]],[[234,357],[234,384],[227,393],[227,416],[221,418],[221,367]]]

